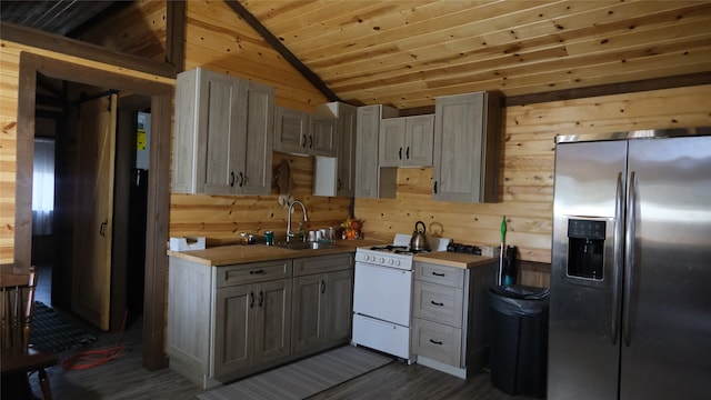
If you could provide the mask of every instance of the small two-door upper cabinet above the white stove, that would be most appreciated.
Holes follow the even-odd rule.
[[[385,119],[380,122],[380,167],[432,166],[434,116]]]

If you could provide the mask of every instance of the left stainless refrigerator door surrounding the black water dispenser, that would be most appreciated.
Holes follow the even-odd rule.
[[[615,269],[615,256],[622,250],[620,204],[625,166],[624,141],[562,143],[555,149],[549,399],[618,396],[621,300],[615,277],[621,269]],[[580,278],[568,272],[571,220],[604,226],[602,277]]]

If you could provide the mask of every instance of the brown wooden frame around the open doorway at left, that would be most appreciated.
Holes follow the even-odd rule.
[[[170,197],[170,129],[173,86],[109,70],[97,69],[42,56],[20,54],[18,92],[16,237],[14,264],[27,270],[31,264],[31,198],[32,154],[37,76],[107,87],[149,97],[151,121],[150,171],[147,193],[146,273],[143,291],[143,366],[159,369],[167,366],[164,348],[167,238]]]

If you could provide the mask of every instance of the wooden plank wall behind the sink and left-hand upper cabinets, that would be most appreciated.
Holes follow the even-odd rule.
[[[284,61],[223,1],[188,1],[186,27],[186,69],[207,69],[254,80],[274,88],[276,104],[312,112],[326,97]],[[311,196],[313,158],[273,153],[273,167],[282,159],[290,164],[296,199],[307,206],[306,229],[338,226],[350,214],[351,199]],[[301,220],[294,212],[293,221]],[[210,242],[238,240],[240,232],[277,237],[287,230],[287,210],[271,196],[172,194],[171,236],[206,236]]]

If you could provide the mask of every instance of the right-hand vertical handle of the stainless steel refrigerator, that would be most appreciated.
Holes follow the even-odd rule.
[[[624,289],[622,302],[622,340],[624,346],[630,347],[630,302],[632,299],[632,272],[634,271],[634,234],[637,217],[637,176],[630,173],[630,186],[628,189],[627,204],[627,234],[624,238]]]

